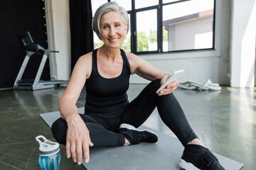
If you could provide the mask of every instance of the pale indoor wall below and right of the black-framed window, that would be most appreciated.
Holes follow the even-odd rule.
[[[217,0],[215,13],[215,50],[191,52],[171,52],[154,55],[139,55],[154,66],[166,72],[185,69],[180,82],[196,81],[229,84],[229,40],[230,40],[230,0]],[[132,75],[132,83],[146,83],[137,75]]]

